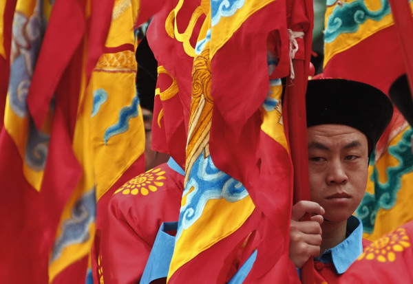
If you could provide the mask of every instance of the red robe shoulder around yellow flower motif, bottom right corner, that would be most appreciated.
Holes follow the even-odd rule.
[[[384,250],[394,252],[394,261],[381,262],[377,261],[377,258],[368,260],[364,257],[350,266],[339,283],[413,283],[413,222],[406,223],[401,228],[405,229],[405,237],[407,237],[403,241],[410,243],[407,248],[399,252],[392,250],[393,245],[400,241],[400,238],[397,238],[397,241],[392,239],[395,242],[387,242],[383,239],[380,245]]]

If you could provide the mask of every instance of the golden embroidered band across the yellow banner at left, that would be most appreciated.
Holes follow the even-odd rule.
[[[137,64],[134,52],[124,50],[116,53],[105,53],[100,56],[95,72],[136,73]]]

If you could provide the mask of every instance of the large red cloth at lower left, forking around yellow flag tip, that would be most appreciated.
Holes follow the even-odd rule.
[[[72,153],[67,125],[63,120],[65,110],[58,96],[40,193],[25,181],[21,157],[14,142],[5,129],[1,131],[2,283],[47,283],[47,260],[61,212],[81,175],[81,168]],[[22,267],[24,273],[21,273]]]

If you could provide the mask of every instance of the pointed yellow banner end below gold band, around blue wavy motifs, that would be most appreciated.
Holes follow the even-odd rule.
[[[125,133],[112,136],[106,145],[104,141],[107,127],[118,122],[120,109],[131,105],[136,96],[135,78],[135,73],[94,72],[90,81],[94,91],[104,89],[107,92],[107,101],[101,105],[91,122],[97,199],[106,193],[145,150],[145,129],[140,108],[139,115],[130,118],[129,129]]]

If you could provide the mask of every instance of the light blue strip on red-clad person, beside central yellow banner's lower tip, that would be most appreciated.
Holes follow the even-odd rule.
[[[169,264],[171,263],[173,248],[175,248],[175,237],[167,234],[167,232],[177,229],[178,222],[162,223],[156,235],[155,243],[153,243],[142,278],[140,278],[140,284],[149,284],[151,281],[168,276]]]

